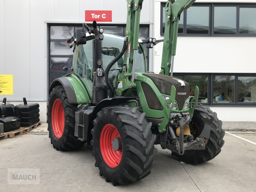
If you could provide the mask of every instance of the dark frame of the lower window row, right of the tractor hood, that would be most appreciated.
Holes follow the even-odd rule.
[[[256,77],[255,73],[173,73],[173,76],[182,76],[184,81],[186,81],[186,76],[189,75],[202,75],[208,76],[208,102],[200,103],[206,106],[235,106],[235,107],[256,107],[256,102],[238,102],[238,77]],[[234,103],[213,103],[213,76],[235,76],[235,102]]]

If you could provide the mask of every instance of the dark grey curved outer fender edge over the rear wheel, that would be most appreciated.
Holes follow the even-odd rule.
[[[49,93],[52,91],[54,87],[58,85],[62,85],[64,87],[69,103],[80,103],[77,101],[77,96],[76,96],[74,86],[73,84],[71,84],[70,80],[67,77],[60,77],[60,78],[54,79],[54,81],[50,86]]]

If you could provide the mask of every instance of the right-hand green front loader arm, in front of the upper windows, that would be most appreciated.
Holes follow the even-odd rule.
[[[196,0],[168,0],[165,5],[164,46],[160,74],[169,75],[176,55],[180,14]],[[172,75],[172,74],[171,74]]]

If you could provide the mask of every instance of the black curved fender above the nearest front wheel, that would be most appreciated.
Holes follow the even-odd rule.
[[[135,100],[134,97],[113,97],[113,98],[107,98],[104,100],[101,100],[95,108],[93,108],[93,111],[90,116],[90,120],[88,123],[88,134],[87,134],[87,145],[90,145],[90,142],[92,140],[92,134],[91,130],[93,128],[93,120],[96,118],[96,115],[101,109],[108,107],[108,106],[113,106],[113,105],[120,105],[122,103],[127,102],[128,100]],[[85,122],[84,122],[85,123]]]

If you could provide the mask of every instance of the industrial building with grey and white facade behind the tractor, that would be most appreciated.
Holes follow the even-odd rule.
[[[144,0],[140,38],[164,38],[166,1]],[[2,0],[0,74],[13,75],[12,104],[40,104],[46,122],[48,88],[72,67],[65,43],[85,21],[85,11],[112,11],[99,22],[105,33],[125,36],[125,0]],[[97,5],[97,6],[96,6]],[[180,15],[174,76],[199,86],[204,105],[224,121],[256,121],[256,1],[202,1]],[[92,21],[86,21],[91,24]],[[148,71],[159,73],[162,43],[147,50]],[[1,99],[1,98],[0,98]]]

